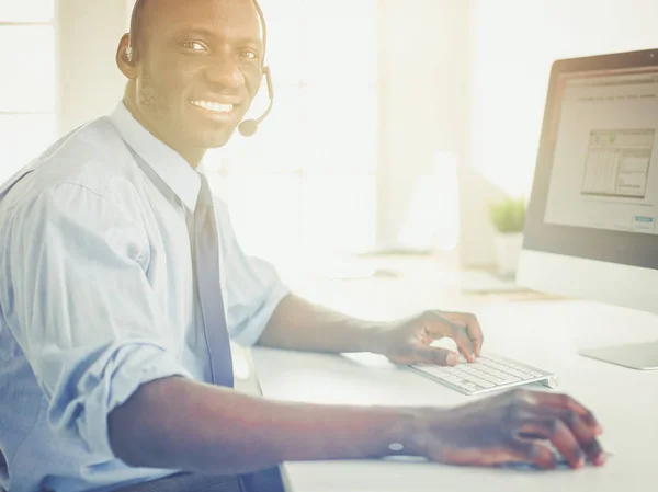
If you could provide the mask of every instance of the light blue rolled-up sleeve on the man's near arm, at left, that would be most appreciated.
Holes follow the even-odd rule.
[[[0,302],[48,400],[48,423],[113,457],[110,413],[143,384],[191,377],[145,274],[146,234],[77,184],[42,192],[4,227]]]

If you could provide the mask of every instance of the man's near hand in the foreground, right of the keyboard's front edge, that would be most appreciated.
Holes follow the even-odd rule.
[[[556,464],[547,443],[572,468],[583,467],[586,459],[597,466],[605,460],[594,415],[565,394],[517,389],[439,413],[423,410],[420,422],[411,446],[438,462],[531,462],[553,469]]]

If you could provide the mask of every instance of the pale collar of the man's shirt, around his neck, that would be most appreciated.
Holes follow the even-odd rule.
[[[190,163],[135,119],[123,101],[116,105],[110,119],[121,138],[175,193],[188,209],[194,213],[201,178]]]

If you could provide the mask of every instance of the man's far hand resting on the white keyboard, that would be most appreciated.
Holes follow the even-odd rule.
[[[468,362],[475,362],[483,346],[483,331],[475,316],[461,312],[427,311],[388,323],[375,332],[375,350],[395,364],[427,363],[454,366],[454,352],[433,347],[434,340],[450,337]]]

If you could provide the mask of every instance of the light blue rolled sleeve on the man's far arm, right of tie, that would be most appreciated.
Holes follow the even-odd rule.
[[[242,346],[254,345],[281,300],[290,294],[269,262],[245,254],[228,210],[216,204],[222,240],[223,287],[229,334]]]

